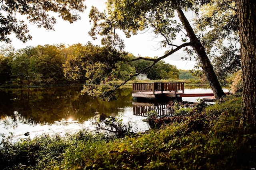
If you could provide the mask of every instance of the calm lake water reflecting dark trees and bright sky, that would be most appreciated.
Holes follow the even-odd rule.
[[[60,134],[80,129],[94,130],[92,120],[100,113],[114,115],[130,122],[133,131],[148,130],[142,121],[146,117],[134,115],[132,88],[116,92],[116,101],[104,102],[88,95],[80,95],[82,87],[30,88],[0,90],[0,140],[13,134],[13,141],[42,134]],[[227,91],[227,90],[226,90]],[[186,89],[187,93],[212,92],[211,89]],[[196,102],[196,98],[183,98]],[[26,136],[25,133],[30,135]]]

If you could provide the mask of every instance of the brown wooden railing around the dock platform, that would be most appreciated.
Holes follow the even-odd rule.
[[[175,96],[178,91],[184,93],[184,82],[153,82],[153,83],[132,83],[132,93],[136,92],[174,92]]]

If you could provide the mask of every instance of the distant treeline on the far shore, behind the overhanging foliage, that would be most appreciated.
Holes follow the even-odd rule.
[[[97,58],[102,47],[91,44],[38,45],[15,50],[2,47],[0,53],[0,86],[44,86],[60,84],[80,84],[88,80],[88,69],[81,58],[90,54]],[[93,51],[92,51],[93,49]],[[94,52],[95,51],[95,52]],[[136,58],[126,54],[126,60]],[[104,59],[104,56],[101,58]],[[94,59],[92,59],[94,60]],[[97,62],[95,62],[97,64]],[[131,74],[152,64],[152,61],[137,60],[120,62],[112,68],[115,80],[126,80]],[[178,70],[176,66],[159,61],[144,72],[151,80],[194,78],[188,70]]]

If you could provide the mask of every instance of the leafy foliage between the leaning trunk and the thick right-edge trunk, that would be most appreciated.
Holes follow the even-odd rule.
[[[213,63],[219,81],[226,85],[225,78],[241,69],[235,0],[209,0],[200,7],[200,18],[197,15],[194,30]]]

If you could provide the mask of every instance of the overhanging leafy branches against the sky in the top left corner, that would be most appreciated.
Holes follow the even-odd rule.
[[[0,41],[10,43],[8,37],[14,33],[22,42],[32,39],[24,20],[18,20],[17,15],[25,16],[30,23],[48,30],[54,30],[56,18],[52,13],[70,23],[80,19],[78,12],[83,12],[86,6],[84,0],[1,0]]]

